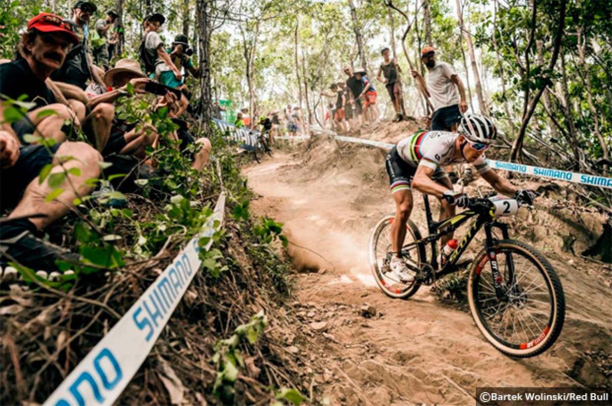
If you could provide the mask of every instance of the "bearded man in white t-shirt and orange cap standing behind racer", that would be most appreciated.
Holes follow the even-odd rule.
[[[435,56],[431,46],[425,46],[421,52],[421,61],[428,71],[427,83],[416,70],[412,71],[412,77],[420,81],[431,98],[434,108],[430,116],[431,130],[456,131],[461,114],[468,111],[465,87],[453,67],[446,62],[437,62]]]

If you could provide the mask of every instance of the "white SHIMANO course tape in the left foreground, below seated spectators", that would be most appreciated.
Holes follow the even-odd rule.
[[[44,406],[112,405],[146,359],[172,312],[200,268],[198,240],[212,237],[223,223],[225,192],[203,231],[83,358]],[[206,245],[210,249],[211,241]]]

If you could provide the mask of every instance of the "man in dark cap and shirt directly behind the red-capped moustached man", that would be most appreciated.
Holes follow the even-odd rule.
[[[89,79],[102,85],[102,73],[95,68],[91,50],[89,48],[89,18],[95,13],[95,4],[79,0],[72,9],[72,20],[64,20],[72,25],[72,29],[79,42],[67,54],[61,68],[53,72],[51,79],[56,82],[69,83],[80,87],[87,87]]]

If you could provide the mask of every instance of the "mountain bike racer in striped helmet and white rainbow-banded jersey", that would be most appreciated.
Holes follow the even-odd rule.
[[[414,273],[401,258],[401,247],[406,237],[406,221],[412,211],[412,192],[415,188],[422,193],[436,196],[442,210],[440,220],[455,215],[455,206],[465,208],[468,196],[453,191],[453,185],[443,166],[461,161],[471,163],[493,188],[526,204],[532,204],[535,193],[518,190],[506,179],[491,170],[483,153],[496,136],[496,128],[490,119],[476,114],[461,118],[458,133],[448,131],[419,130],[397,143],[386,158],[386,169],[392,196],[395,200],[395,220],[391,227],[393,256],[390,268],[403,282],[414,281]],[[453,233],[441,238],[446,244]],[[465,258],[465,257],[464,257]],[[457,265],[465,265],[467,258]],[[444,264],[441,264],[444,265]]]

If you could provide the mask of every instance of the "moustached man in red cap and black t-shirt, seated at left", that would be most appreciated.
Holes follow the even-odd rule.
[[[0,227],[3,266],[15,261],[34,270],[56,270],[55,260],[80,258],[37,237],[46,226],[74,210],[76,197],[92,190],[85,181],[100,174],[100,153],[83,142],[61,142],[64,120],[75,117],[69,108],[55,103],[45,84],[51,72],[61,67],[70,43],[78,43],[70,25],[58,15],[40,13],[28,22],[28,31],[21,37],[19,47],[23,59],[0,65],[0,93],[10,98],[27,94],[24,101],[37,103],[28,113],[30,120],[26,121],[37,126],[37,131],[30,128],[29,132],[54,135],[58,140],[49,149],[40,145],[22,146],[14,125],[0,124],[0,205],[2,209],[12,209],[2,218]],[[40,103],[48,104],[42,107]],[[0,104],[2,117],[3,109]],[[39,117],[43,109],[53,109],[58,114]],[[51,193],[51,187],[37,179],[48,164],[53,164],[51,174],[66,171],[66,180],[60,185],[64,191],[50,202],[44,197]]]

